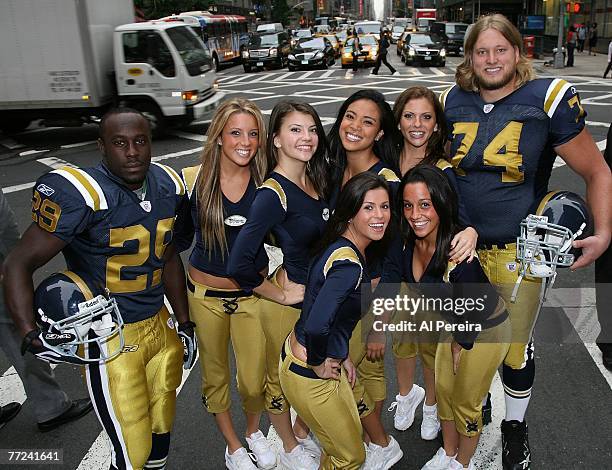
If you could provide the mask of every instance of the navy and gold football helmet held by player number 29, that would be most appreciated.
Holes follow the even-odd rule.
[[[34,293],[34,310],[39,339],[50,356],[47,360],[102,363],[123,349],[123,318],[117,301],[108,291],[101,294],[91,289],[72,271],[53,274],[40,283]],[[117,335],[111,348],[110,341]],[[80,346],[84,348],[81,354]]]

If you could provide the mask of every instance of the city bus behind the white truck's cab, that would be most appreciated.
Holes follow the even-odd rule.
[[[215,71],[225,64],[240,62],[242,48],[249,42],[248,22],[244,16],[186,11],[162,20],[182,21],[191,26],[208,46]]]

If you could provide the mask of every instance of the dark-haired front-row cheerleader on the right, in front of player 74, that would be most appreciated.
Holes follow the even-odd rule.
[[[423,295],[457,302],[453,309],[438,312],[451,325],[439,331],[435,353],[435,393],[444,447],[423,468],[462,467],[450,462],[455,458],[469,462],[476,450],[482,401],[509,348],[508,312],[478,258],[460,263],[449,260],[451,241],[460,225],[457,195],[444,173],[417,165],[402,178],[399,191],[403,245],[389,253],[379,289],[386,290],[387,282],[405,281],[418,295],[421,286],[437,284],[435,290],[422,290]],[[458,302],[468,305],[468,300],[479,308],[462,311]],[[421,327],[416,325],[417,330]]]

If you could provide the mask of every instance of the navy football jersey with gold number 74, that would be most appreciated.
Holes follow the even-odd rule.
[[[554,148],[584,128],[576,89],[565,80],[536,79],[485,103],[455,85],[440,101],[457,186],[479,239],[516,241],[521,220],[548,191]]]

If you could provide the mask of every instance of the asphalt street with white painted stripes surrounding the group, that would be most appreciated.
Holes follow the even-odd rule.
[[[425,85],[436,92],[454,82],[460,58],[449,58],[443,68],[407,67],[395,55],[389,57],[400,71],[391,76],[383,68],[379,76],[369,76],[369,69],[352,74],[339,63],[328,70],[288,72],[269,70],[243,73],[241,66],[219,74],[221,89],[228,97],[243,96],[254,100],[269,115],[275,103],[293,97],[312,104],[326,130],[334,122],[341,102],[361,88],[374,88],[390,102],[407,87]],[[600,149],[612,114],[612,81],[592,77],[564,76],[580,93],[588,113],[587,127]],[[154,142],[154,160],[180,170],[198,161],[208,123],[195,123]],[[99,159],[95,139],[97,127],[39,128],[6,136],[0,134],[0,182],[17,213],[20,228],[30,223],[31,187],[35,180],[52,168],[66,164],[90,166]],[[583,181],[559,162],[551,178],[551,189],[568,189],[584,195]],[[42,277],[63,267],[57,257],[41,269]],[[606,469],[612,462],[612,374],[601,365],[598,350],[592,344],[598,332],[595,318],[593,269],[576,273],[562,272],[556,289],[549,296],[536,328],[536,384],[527,415],[532,448],[533,469]],[[612,287],[612,286],[611,286]],[[387,354],[387,406],[397,393],[391,355]],[[87,394],[78,368],[58,366],[56,375],[71,397]],[[0,403],[26,399],[14,369],[0,352]],[[417,376],[422,384],[422,378]],[[214,420],[207,415],[200,399],[200,371],[196,365],[184,376],[178,397],[175,429],[168,462],[169,469],[217,470],[225,468],[224,444]],[[503,418],[503,392],[499,378],[493,383],[493,423],[485,428],[476,456],[480,469],[501,469],[499,422]],[[244,418],[235,389],[234,418],[237,429],[244,429]],[[399,441],[404,458],[394,468],[417,469],[435,453],[438,443],[420,439],[421,411],[415,424],[405,432],[393,430],[392,413],[384,411],[387,429]],[[261,429],[278,445],[266,417]],[[18,417],[0,430],[0,449],[62,449],[64,462],[54,468],[106,469],[109,449],[93,413],[59,430],[41,434],[36,429],[33,412],[26,402]],[[30,468],[42,468],[33,465]],[[13,468],[11,466],[7,468]]]

